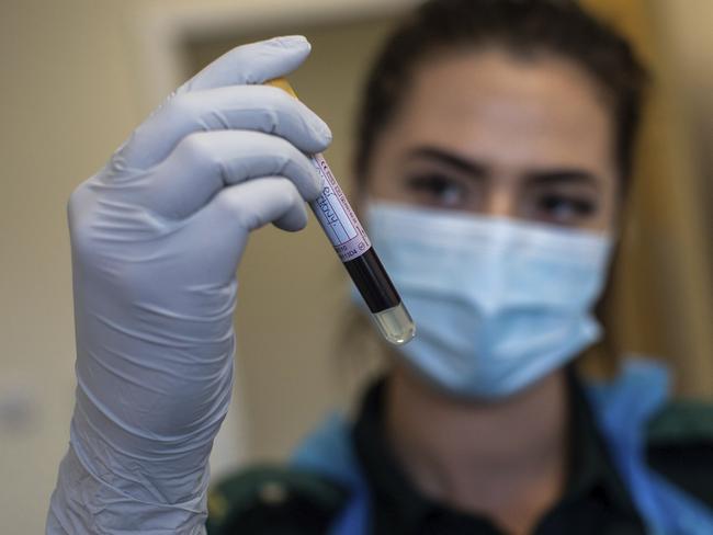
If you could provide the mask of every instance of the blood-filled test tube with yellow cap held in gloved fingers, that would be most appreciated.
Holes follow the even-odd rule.
[[[295,99],[295,91],[284,78],[265,82],[286,91]],[[416,325],[401,303],[386,270],[359,223],[347,196],[337,183],[321,153],[313,155],[312,162],[324,179],[321,195],[309,203],[319,225],[341,259],[354,286],[364,298],[371,317],[388,342],[400,345],[416,335]]]

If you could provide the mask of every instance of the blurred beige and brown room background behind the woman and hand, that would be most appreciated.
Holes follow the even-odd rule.
[[[182,80],[239,43],[305,34],[293,77],[332,127],[350,189],[365,68],[412,0],[2,0],[0,3],[0,517],[42,533],[73,401],[65,204]],[[632,212],[609,325],[659,355],[681,396],[713,399],[713,2],[591,0],[653,66]],[[291,270],[283,266],[290,262]],[[236,402],[217,475],[284,456],[363,375],[343,365],[347,278],[315,221],[256,234],[240,269]],[[367,355],[361,355],[366,361]],[[355,356],[359,361],[360,355]]]

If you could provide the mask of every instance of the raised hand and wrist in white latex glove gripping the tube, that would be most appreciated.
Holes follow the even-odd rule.
[[[178,89],[69,202],[77,402],[47,533],[203,533],[233,384],[235,273],[250,230],[298,230],[324,122],[259,86],[304,37],[233,49]]]

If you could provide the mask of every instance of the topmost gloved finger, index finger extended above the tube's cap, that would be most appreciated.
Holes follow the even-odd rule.
[[[177,93],[262,83],[295,70],[309,56],[310,49],[309,42],[302,35],[273,37],[238,46],[201,70]]]

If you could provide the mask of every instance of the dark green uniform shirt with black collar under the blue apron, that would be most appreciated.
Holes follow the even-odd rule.
[[[501,535],[487,517],[455,511],[411,485],[383,432],[385,382],[364,396],[352,432],[372,499],[375,535]],[[569,374],[568,479],[559,502],[533,535],[644,535],[642,520],[596,426],[580,380]],[[649,425],[649,465],[713,508],[713,408],[667,406]],[[218,485],[208,500],[208,534],[320,534],[349,492],[326,478],[290,467],[257,467]]]

